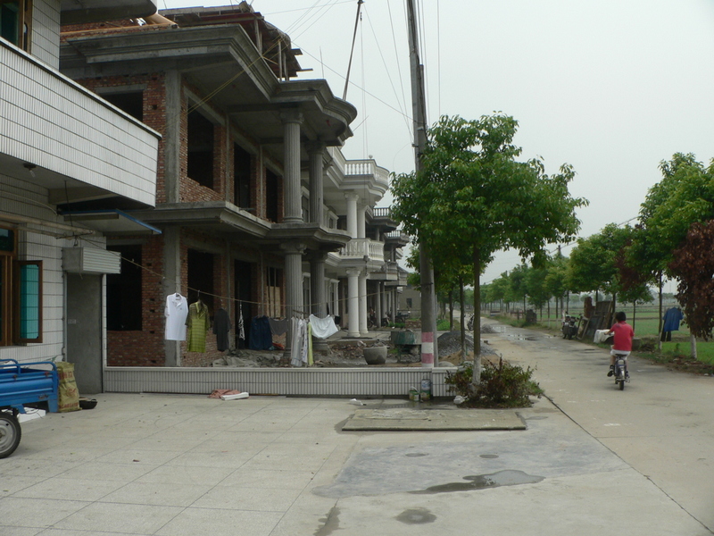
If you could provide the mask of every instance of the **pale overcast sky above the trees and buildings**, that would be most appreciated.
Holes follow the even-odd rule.
[[[357,0],[252,4],[303,50],[300,63],[312,71],[300,78],[325,78],[341,97]],[[570,192],[590,201],[577,213],[582,237],[635,218],[661,160],[714,156],[711,0],[419,0],[419,11],[428,123],[442,114],[512,115],[524,160],[543,157],[549,173],[575,168]],[[359,114],[343,152],[411,172],[405,0],[364,0],[361,13],[347,90]],[[497,255],[482,282],[518,263],[514,253]]]

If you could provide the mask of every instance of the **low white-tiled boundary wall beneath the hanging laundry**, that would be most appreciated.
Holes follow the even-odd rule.
[[[237,389],[253,395],[306,397],[408,396],[422,380],[432,381],[432,396],[452,396],[444,380],[448,371],[436,368],[185,368],[107,367],[104,392],[210,394]]]

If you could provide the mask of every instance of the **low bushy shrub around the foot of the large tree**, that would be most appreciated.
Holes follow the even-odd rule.
[[[449,392],[461,395],[466,407],[530,407],[531,395],[540,397],[543,389],[533,380],[534,369],[524,370],[518,365],[504,363],[498,366],[484,362],[481,368],[481,382],[473,389],[473,364],[461,365],[456,373],[448,373],[446,385]]]

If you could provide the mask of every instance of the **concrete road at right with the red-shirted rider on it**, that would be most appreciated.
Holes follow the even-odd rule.
[[[672,372],[635,353],[632,381],[619,391],[606,377],[606,350],[485,322],[501,332],[484,339],[512,363],[536,367],[565,415],[714,531],[714,377]]]

